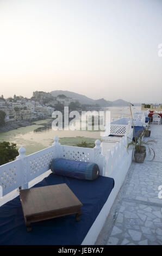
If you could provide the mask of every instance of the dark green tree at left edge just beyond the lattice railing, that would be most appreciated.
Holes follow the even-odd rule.
[[[18,150],[15,143],[10,142],[0,142],[0,165],[8,163],[15,160],[18,156]]]

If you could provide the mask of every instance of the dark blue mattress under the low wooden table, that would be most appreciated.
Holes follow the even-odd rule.
[[[82,202],[83,215],[53,218],[31,224],[27,232],[20,197],[0,207],[0,245],[80,245],[114,187],[114,179],[79,180],[50,174],[34,187],[66,183]]]

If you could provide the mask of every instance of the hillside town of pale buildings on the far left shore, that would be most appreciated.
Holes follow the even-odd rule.
[[[33,92],[30,99],[14,95],[14,98],[4,99],[0,96],[0,111],[5,112],[5,122],[20,120],[39,120],[52,117],[55,105],[70,105],[77,100],[63,94],[54,97],[51,93]]]

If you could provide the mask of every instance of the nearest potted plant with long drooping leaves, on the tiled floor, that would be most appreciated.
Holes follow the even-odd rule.
[[[146,147],[148,147],[148,154],[151,155],[153,153],[153,157],[151,161],[153,161],[155,157],[155,151],[152,147],[150,147],[153,143],[157,143],[154,139],[149,139],[148,141],[143,140],[144,133],[140,133],[140,136],[135,138],[135,141],[132,141],[128,144],[134,145],[134,159],[137,163],[143,163],[146,157]]]

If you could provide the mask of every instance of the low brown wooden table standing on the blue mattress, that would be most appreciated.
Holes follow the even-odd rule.
[[[66,184],[20,190],[20,200],[27,231],[30,223],[65,215],[82,215],[83,205]]]

